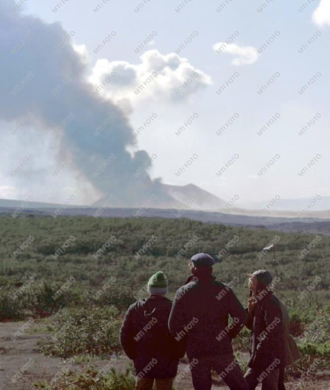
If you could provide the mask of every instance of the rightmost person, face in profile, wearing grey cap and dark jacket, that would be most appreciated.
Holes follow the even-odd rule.
[[[263,390],[277,390],[280,371],[281,376],[284,375],[284,326],[288,326],[288,313],[283,302],[270,290],[271,283],[269,271],[259,270],[250,275],[246,326],[251,329],[251,356],[244,375],[249,390],[254,390],[259,383]]]

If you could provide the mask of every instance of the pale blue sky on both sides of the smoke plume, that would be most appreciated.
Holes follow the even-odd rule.
[[[144,64],[139,57],[141,54],[150,50],[161,56],[175,54],[182,42],[197,32],[178,54],[199,74],[198,80],[191,82],[192,90],[176,96],[174,90],[178,80],[171,81],[171,85],[168,83],[176,77],[173,72],[168,74],[169,78],[158,77],[148,91],[141,94],[141,99],[132,97],[132,89],[129,93],[126,87],[118,91],[116,86],[113,92],[109,84],[108,90],[104,91],[107,94],[104,97],[108,99],[116,100],[120,95],[123,100],[116,103],[126,110],[133,129],[152,113],[157,115],[136,138],[135,145],[128,146],[132,154],[143,149],[149,155],[157,155],[149,170],[152,178],[161,177],[164,183],[175,185],[193,183],[223,199],[237,194],[244,205],[271,199],[276,194],[281,198],[330,195],[329,1],[323,0],[320,6],[318,0],[310,0],[310,4],[306,2],[303,6],[304,2],[300,1],[274,0],[262,12],[258,9],[263,2],[256,0],[229,1],[221,12],[216,11],[221,2],[213,0],[207,3],[187,1],[180,12],[176,12],[180,1],[172,0],[161,4],[150,0],[139,12],[135,12],[139,2],[104,3],[98,12],[93,11],[98,1],[69,0],[54,12],[56,1],[27,0],[21,8],[24,15],[33,15],[47,23],[61,23],[67,32],[74,32],[72,44],[85,45],[85,53],[88,53],[86,79],[93,71],[96,79],[102,76],[100,68],[96,67],[98,60],[107,60],[105,64],[109,69],[115,66],[114,61],[125,61],[130,65],[141,65],[141,70]],[[315,14],[317,7],[319,10]],[[115,36],[95,54],[93,50],[111,31],[115,31]],[[153,31],[156,35],[151,44],[145,45],[139,54],[135,53],[138,45]],[[269,38],[275,32],[276,39],[270,42]],[[232,34],[236,36],[231,43],[236,46],[227,43],[226,51],[217,54],[213,46],[218,42],[229,42]],[[307,43],[314,34],[314,41]],[[264,44],[267,49],[258,54]],[[307,49],[299,53],[304,44]],[[238,54],[230,54],[230,51]],[[254,54],[257,58],[252,63],[233,64],[235,58],[243,58],[244,62],[241,53]],[[143,74],[140,70],[137,73]],[[276,72],[280,75],[262,95],[258,95],[257,91]],[[315,82],[300,95],[298,91],[318,72],[321,75],[316,76]],[[217,95],[219,87],[237,73],[239,76]],[[178,128],[194,113],[198,117],[177,136]],[[235,113],[239,117],[223,134],[217,135],[219,128]],[[317,113],[320,117],[315,124],[304,135],[299,135],[298,131]],[[264,134],[258,135],[260,128],[267,126],[275,114],[279,114],[277,120]],[[15,128],[17,123],[4,123],[7,123],[4,138],[7,144],[17,150],[17,155],[24,156],[26,139],[8,135],[8,126]],[[42,165],[50,172],[54,170],[58,164],[55,159],[57,146],[49,134],[40,135],[31,128],[29,140],[30,152],[34,151],[39,159],[39,165],[35,163],[33,169],[37,171]],[[182,175],[176,175],[193,154],[198,158]],[[280,158],[259,177],[257,173],[275,154]],[[233,155],[239,158],[224,174],[217,176]],[[315,163],[310,164],[308,171],[300,177],[298,172],[316,155],[321,157],[316,158],[317,161],[314,160]],[[24,182],[10,174],[19,159],[11,162],[9,151],[4,156],[0,197],[27,196],[30,190]],[[76,203],[89,203],[100,196],[92,185],[81,185],[81,180],[69,169],[62,177],[61,191],[58,191],[58,184],[48,182],[47,175],[45,178],[36,180],[35,200],[62,202],[74,192]]]

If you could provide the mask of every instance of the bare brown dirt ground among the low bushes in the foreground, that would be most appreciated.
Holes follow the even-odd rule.
[[[51,379],[61,370],[64,370],[64,360],[61,358],[46,357],[37,351],[37,340],[45,337],[45,333],[40,332],[43,324],[35,322],[31,328],[20,336],[17,340],[12,340],[11,336],[24,322],[0,323],[0,389],[4,390],[31,390],[33,382],[43,379]],[[33,330],[36,330],[33,332]],[[107,360],[95,360],[93,364],[98,368],[103,368],[108,363]],[[128,360],[125,358],[116,359],[116,368],[125,368]],[[25,365],[26,370],[20,377],[14,377]],[[81,364],[73,364],[72,369],[79,370]],[[177,390],[193,389],[191,375],[188,365],[180,363],[178,374],[185,372],[180,380],[175,382]],[[322,378],[323,377],[323,378]],[[302,387],[299,382],[287,382],[287,390],[330,390],[329,377],[320,376],[317,380],[306,382]],[[261,387],[258,387],[258,389]],[[227,386],[219,381],[214,381],[212,389],[225,390]]]

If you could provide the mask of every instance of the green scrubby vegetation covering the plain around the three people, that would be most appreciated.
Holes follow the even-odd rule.
[[[46,355],[109,358],[120,352],[123,313],[137,297],[147,295],[150,275],[158,270],[166,273],[173,297],[189,275],[187,261],[192,254],[205,251],[216,258],[224,249],[214,273],[224,282],[235,281],[233,289],[243,304],[247,272],[267,268],[279,278],[275,292],[290,311],[291,333],[304,355],[287,372],[299,377],[330,361],[328,236],[308,247],[315,235],[160,218],[2,217],[0,224],[0,321],[49,317],[49,336],[39,344]],[[261,250],[275,235],[279,240],[274,262]],[[22,246],[28,237],[30,242]],[[235,244],[228,245],[233,237]],[[244,329],[235,339],[237,356],[246,352],[248,338]],[[88,370],[88,377],[96,372],[93,367]],[[66,373],[57,387],[44,383],[37,388],[64,388],[74,381],[66,388],[134,386],[130,373],[112,370],[95,384],[88,382],[86,372]],[[127,381],[126,387],[116,387],[117,380]]]

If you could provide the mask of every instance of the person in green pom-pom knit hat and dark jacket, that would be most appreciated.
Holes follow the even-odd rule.
[[[120,343],[133,360],[136,389],[172,390],[179,358],[185,354],[184,343],[177,341],[168,328],[172,301],[166,298],[168,280],[156,272],[148,282],[150,296],[131,305],[120,329]]]

